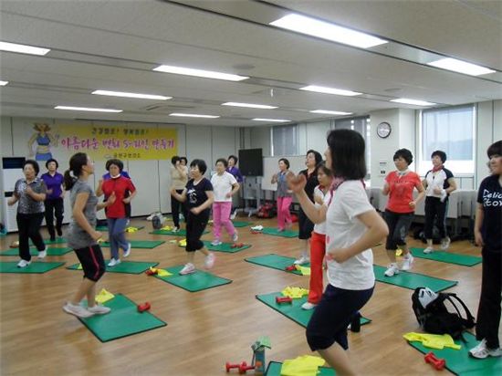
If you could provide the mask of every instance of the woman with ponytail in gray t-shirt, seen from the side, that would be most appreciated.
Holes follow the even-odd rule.
[[[98,197],[90,187],[89,176],[94,173],[94,162],[85,152],[74,154],[69,160],[69,170],[65,172],[65,188],[69,193],[72,217],[68,230],[68,245],[75,250],[84,271],[84,279],[77,292],[64,306],[63,310],[79,318],[102,315],[110,308],[96,304],[96,282],[105,272],[103,253],[98,240],[101,233],[96,231],[96,210],[115,202],[111,194],[105,203],[98,204]],[[80,301],[87,297],[87,308]]]

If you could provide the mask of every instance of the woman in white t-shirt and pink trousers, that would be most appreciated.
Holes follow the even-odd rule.
[[[237,232],[230,220],[232,211],[232,196],[239,190],[239,183],[235,180],[233,174],[226,172],[228,162],[224,158],[216,161],[216,173],[211,177],[211,183],[214,190],[213,204],[213,234],[212,245],[221,245],[221,230],[225,227],[232,241],[237,241]]]

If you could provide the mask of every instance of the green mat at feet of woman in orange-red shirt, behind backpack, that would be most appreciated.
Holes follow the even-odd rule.
[[[410,288],[414,290],[416,287],[429,287],[434,292],[443,291],[446,288],[455,286],[458,281],[450,281],[436,277],[425,276],[424,274],[411,273],[400,271],[398,275],[393,277],[385,277],[383,273],[387,270],[386,267],[373,265],[376,280],[391,285]]]

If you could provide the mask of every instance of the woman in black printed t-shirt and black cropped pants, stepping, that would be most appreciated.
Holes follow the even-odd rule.
[[[182,203],[186,202],[188,209],[185,247],[187,263],[180,271],[181,275],[195,272],[193,265],[195,251],[201,251],[205,255],[205,268],[210,269],[214,266],[214,254],[205,249],[204,243],[201,241],[201,236],[209,221],[211,205],[214,202],[213,185],[204,178],[206,170],[207,165],[203,160],[193,160],[190,163],[192,179],[186,183],[183,193],[177,193],[175,189],[171,190],[173,197]]]

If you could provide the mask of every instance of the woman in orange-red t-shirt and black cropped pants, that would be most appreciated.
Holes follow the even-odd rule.
[[[391,265],[385,271],[385,277],[399,274],[396,262],[396,249],[403,251],[403,266],[401,270],[409,270],[413,265],[413,256],[406,245],[406,235],[413,222],[416,204],[424,198],[425,190],[420,176],[410,171],[408,166],[413,162],[412,151],[400,149],[394,153],[394,164],[397,171],[389,172],[385,177],[382,193],[389,194],[389,202],[385,207],[383,218],[389,226],[389,235],[385,249]],[[418,191],[418,196],[413,200],[413,189]]]

